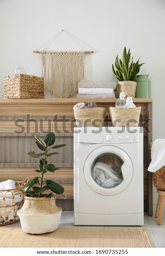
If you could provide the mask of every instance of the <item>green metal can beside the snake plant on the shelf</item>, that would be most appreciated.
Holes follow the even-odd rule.
[[[136,98],[151,98],[150,75],[137,75]]]

